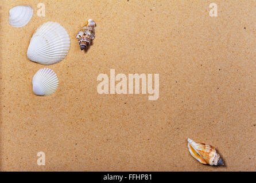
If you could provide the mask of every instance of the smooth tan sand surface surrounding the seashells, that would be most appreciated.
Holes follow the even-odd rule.
[[[37,16],[45,3],[46,17]],[[210,17],[210,3],[218,17]],[[25,27],[9,10],[30,5]],[[256,1],[0,1],[0,170],[255,170]],[[97,23],[85,53],[76,34]],[[26,57],[47,21],[71,38],[53,69],[59,88],[35,96],[32,77],[45,66]],[[159,73],[160,97],[97,93],[100,73]],[[188,152],[187,138],[217,148],[212,167]],[[37,165],[37,152],[46,165]]]

